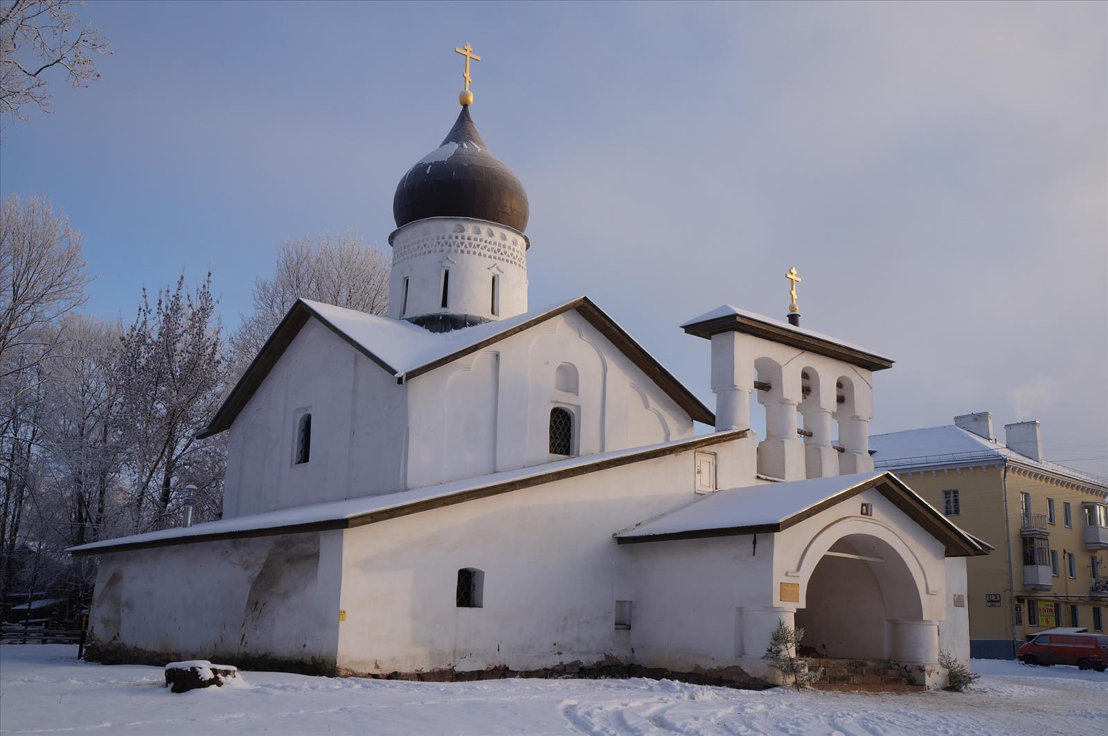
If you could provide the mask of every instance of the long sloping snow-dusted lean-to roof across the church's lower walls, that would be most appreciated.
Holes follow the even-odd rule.
[[[711,435],[689,437],[659,444],[567,458],[541,466],[504,470],[488,476],[425,485],[397,493],[368,495],[346,501],[310,503],[291,509],[279,509],[265,513],[222,519],[194,527],[177,527],[146,532],[144,534],[91,542],[70,548],[69,552],[78,555],[98,554],[133,546],[158,546],[225,539],[263,530],[267,534],[290,534],[321,529],[345,529],[351,525],[362,525],[407,513],[414,513],[424,508],[439,508],[450,503],[461,503],[475,498],[484,498],[496,493],[550,483],[585,472],[617,468],[633,462],[718,444],[719,442],[737,439],[745,435],[746,430],[712,432]]]

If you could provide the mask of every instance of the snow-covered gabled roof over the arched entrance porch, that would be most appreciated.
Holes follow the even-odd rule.
[[[620,544],[784,531],[837,503],[876,488],[896,508],[946,545],[946,556],[987,554],[992,546],[938,513],[892,473],[812,478],[730,488],[702,495],[615,534]]]

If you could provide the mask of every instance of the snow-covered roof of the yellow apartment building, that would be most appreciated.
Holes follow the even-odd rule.
[[[1108,492],[1108,478],[1048,460],[1035,460],[954,425],[874,435],[870,437],[870,450],[873,451],[874,464],[885,470],[1017,462]]]

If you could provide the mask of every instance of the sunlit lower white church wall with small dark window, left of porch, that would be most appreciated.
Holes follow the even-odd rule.
[[[727,461],[727,448],[710,449]],[[629,657],[635,628],[616,630],[614,619],[615,601],[633,595],[629,548],[612,534],[691,501],[694,456],[347,531],[339,667],[376,674],[533,669]],[[481,609],[455,606],[462,568],[484,572]]]

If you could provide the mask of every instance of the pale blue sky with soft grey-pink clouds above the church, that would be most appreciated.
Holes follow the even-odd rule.
[[[85,310],[283,238],[388,248],[458,113],[527,190],[530,301],[587,294],[714,406],[720,304],[890,356],[872,432],[992,411],[1108,476],[1108,4],[222,3],[79,9],[102,78],[3,121],[0,193],[84,235]]]

